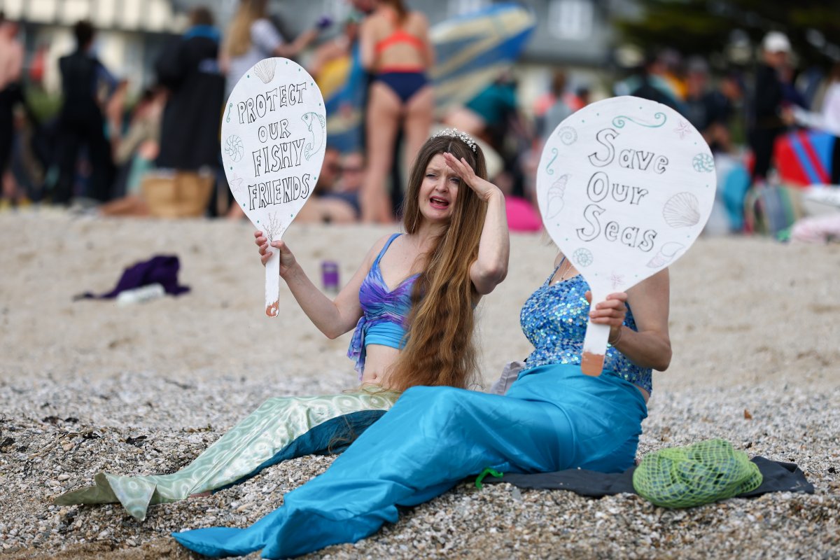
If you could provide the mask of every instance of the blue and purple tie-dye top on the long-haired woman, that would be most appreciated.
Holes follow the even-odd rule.
[[[406,321],[412,309],[412,288],[419,275],[411,275],[396,285],[396,288],[389,290],[379,267],[382,255],[400,235],[402,233],[394,233],[388,238],[385,247],[370,265],[370,272],[365,276],[365,280],[362,280],[359,289],[362,317],[356,323],[356,330],[347,350],[347,357],[356,360],[359,379],[362,379],[362,372],[365,370],[365,347],[368,344],[381,344],[398,349],[406,345]]]

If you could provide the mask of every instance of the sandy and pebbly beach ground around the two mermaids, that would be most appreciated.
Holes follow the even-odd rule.
[[[294,224],[285,239],[318,283],[349,279],[392,228]],[[172,531],[247,526],[332,457],[266,469],[212,496],[155,505],[53,505],[97,472],[171,473],[269,396],[353,388],[349,334],[328,340],[281,283],[265,317],[248,222],[0,214],[0,557],[192,558]],[[519,308],[554,247],[512,235],[510,272],[477,309],[489,387],[530,351]],[[111,290],[155,254],[181,259],[183,296],[118,306]],[[700,238],[671,268],[674,359],[654,374],[638,457],[722,437],[797,463],[813,495],[780,492],[688,510],[638,495],[591,499],[460,484],[355,544],[312,558],[840,558],[840,244]],[[250,557],[259,557],[253,554]]]

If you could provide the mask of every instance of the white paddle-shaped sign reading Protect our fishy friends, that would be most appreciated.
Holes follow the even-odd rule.
[[[315,188],[327,147],[326,110],[312,76],[284,58],[260,60],[234,86],[222,118],[222,161],[236,203],[279,240]],[[265,314],[276,317],[280,254],[265,264]]]

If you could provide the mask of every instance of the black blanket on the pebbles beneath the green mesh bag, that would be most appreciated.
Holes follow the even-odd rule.
[[[764,457],[750,459],[762,475],[762,483],[751,492],[744,492],[737,498],[752,498],[768,492],[805,492],[814,493],[814,485],[805,478],[805,473],[795,463],[780,463]],[[633,489],[633,471],[628,468],[623,473],[605,474],[583,468],[569,468],[556,473],[505,474],[501,478],[486,477],[484,484],[508,482],[520,488],[571,490],[575,494],[601,498],[602,496],[636,494]]]

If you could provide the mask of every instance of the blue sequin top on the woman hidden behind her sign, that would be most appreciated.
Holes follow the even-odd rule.
[[[526,369],[546,364],[580,365],[589,317],[589,302],[586,301],[585,293],[590,288],[581,275],[549,285],[557,270],[554,269],[545,283],[531,294],[519,315],[522,332],[534,347],[525,360]],[[629,306],[624,325],[638,331]],[[633,364],[612,346],[606,348],[604,370],[605,373],[627,379],[648,393],[651,391],[652,370]]]

